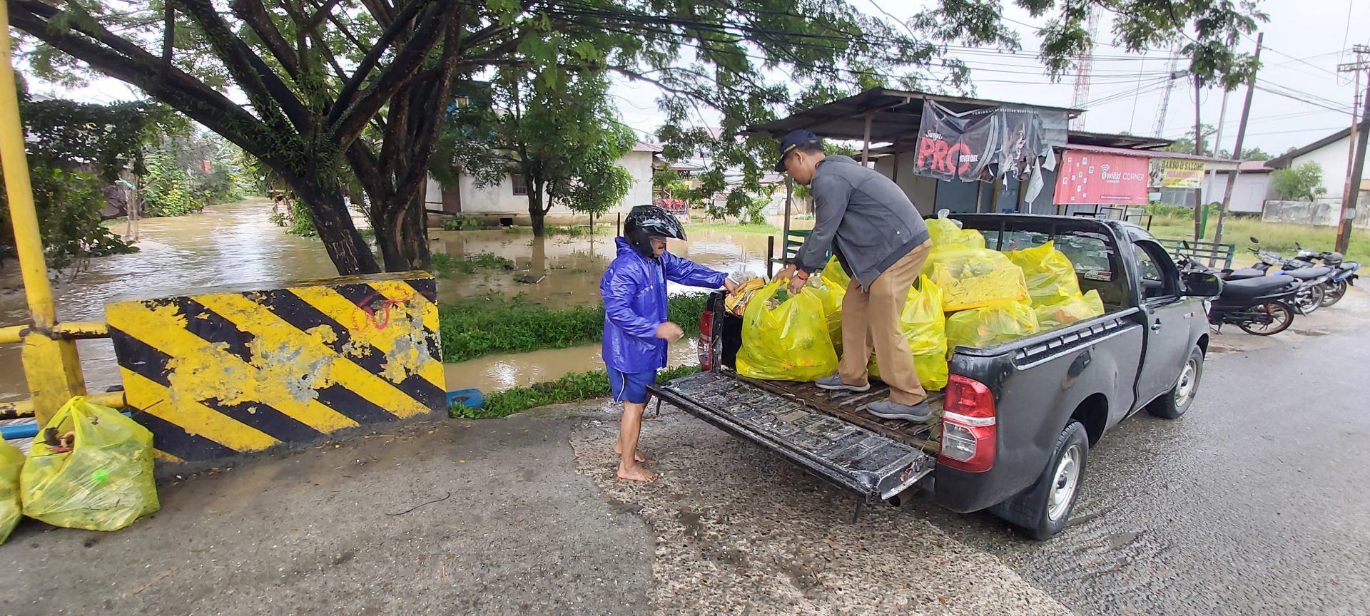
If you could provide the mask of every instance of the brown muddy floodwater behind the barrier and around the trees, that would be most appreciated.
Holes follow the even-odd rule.
[[[77,272],[53,282],[59,320],[104,320],[111,300],[195,293],[222,285],[275,285],[295,279],[336,275],[318,240],[288,235],[267,222],[267,201],[215,205],[201,214],[141,222],[133,255],[93,259]],[[121,223],[114,227],[122,233]],[[723,271],[763,274],[766,237],[748,233],[692,230],[689,242],[673,242],[671,252]],[[600,301],[599,282],[614,259],[614,229],[599,227],[581,237],[549,237],[534,241],[526,230],[433,230],[433,252],[451,255],[495,253],[515,263],[512,271],[478,271],[438,278],[438,301],[497,292],[523,294],[552,307],[593,305]],[[521,283],[525,275],[547,278]],[[671,285],[673,293],[688,290]],[[15,261],[0,270],[0,326],[27,322],[23,285]],[[119,385],[114,348],[108,341],[81,341],[81,365],[92,392]],[[693,359],[688,341],[671,349],[671,364]],[[555,379],[570,371],[603,367],[599,345],[533,353],[497,355],[447,365],[449,389],[485,392]],[[19,346],[0,346],[0,400],[27,397],[19,363]]]

